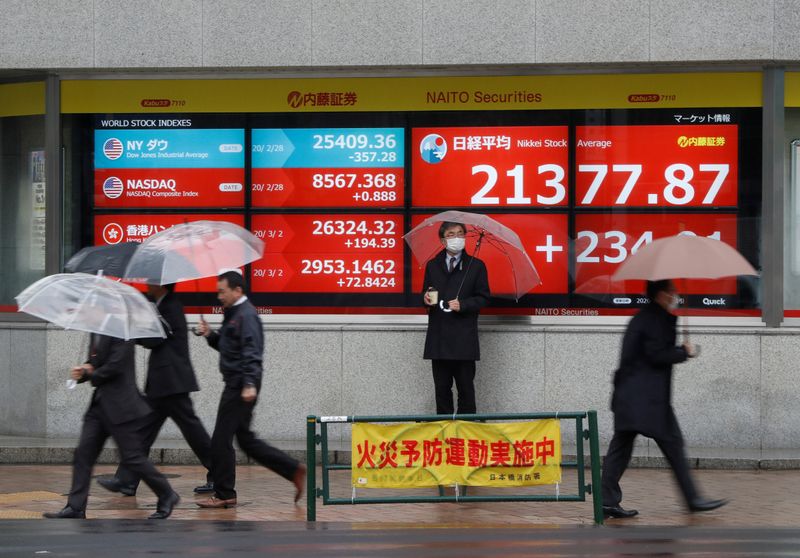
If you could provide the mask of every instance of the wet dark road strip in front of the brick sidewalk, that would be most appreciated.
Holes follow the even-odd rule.
[[[0,521],[0,556],[800,556],[798,529]]]

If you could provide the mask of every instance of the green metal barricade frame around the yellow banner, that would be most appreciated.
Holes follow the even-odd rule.
[[[350,470],[350,465],[331,464],[328,459],[328,425],[337,423],[354,422],[433,422],[453,418],[465,421],[498,421],[498,420],[539,420],[559,419],[575,421],[576,458],[575,461],[562,461],[562,467],[576,469],[578,486],[575,494],[558,495],[491,495],[491,496],[409,496],[409,497],[376,497],[376,498],[332,498],[330,495],[330,471]],[[584,421],[588,428],[584,429]],[[317,431],[319,427],[319,432]],[[591,483],[585,482],[585,456],[583,441],[589,441],[589,462],[591,467]],[[317,487],[316,453],[317,448],[322,455],[322,486]],[[353,504],[405,504],[426,502],[585,502],[586,495],[592,495],[594,507],[594,522],[603,524],[603,502],[600,490],[600,443],[597,435],[597,411],[568,412],[568,413],[527,413],[527,414],[481,414],[481,415],[400,415],[400,416],[335,416],[317,417],[310,415],[306,423],[306,450],[307,450],[307,505],[306,517],[308,521],[316,521],[317,498],[322,499],[323,505],[353,505]]]

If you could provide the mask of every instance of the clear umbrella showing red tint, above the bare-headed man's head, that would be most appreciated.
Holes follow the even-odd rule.
[[[213,277],[261,258],[264,241],[227,221],[192,221],[147,238],[128,262],[127,280],[167,285]]]

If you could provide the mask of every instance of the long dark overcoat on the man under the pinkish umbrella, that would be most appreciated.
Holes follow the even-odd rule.
[[[648,437],[672,432],[672,365],[688,358],[675,346],[677,317],[650,303],[628,323],[614,374],[614,429]]]

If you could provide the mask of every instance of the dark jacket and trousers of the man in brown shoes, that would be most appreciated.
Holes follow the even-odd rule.
[[[291,481],[299,462],[256,437],[250,430],[250,423],[258,399],[250,402],[242,399],[244,386],[255,386],[261,393],[264,329],[255,307],[244,300],[226,308],[222,327],[210,333],[207,341],[219,351],[219,368],[225,381],[211,436],[211,472],[216,497],[221,500],[236,498],[234,437],[248,456]]]

